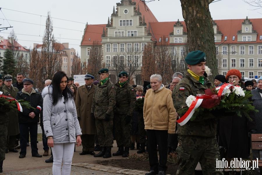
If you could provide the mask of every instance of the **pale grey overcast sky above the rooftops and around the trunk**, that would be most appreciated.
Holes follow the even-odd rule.
[[[56,39],[61,43],[69,42],[69,47],[75,48],[80,55],[79,45],[82,40],[86,22],[88,22],[88,24],[107,24],[107,19],[113,11],[113,6],[116,6],[118,2],[120,2],[120,0],[1,1],[0,24],[2,25],[0,27],[9,26],[9,22],[13,28],[1,31],[0,35],[7,38],[13,29],[17,34],[18,42],[22,46],[32,48],[33,43],[41,44],[41,36],[44,34],[45,26],[40,26],[40,24],[45,25],[46,17],[44,16],[47,16],[47,12],[50,11],[51,17],[59,18],[52,19]],[[179,0],[156,0],[147,3],[147,5],[159,22],[177,21],[177,19],[183,21]],[[262,18],[260,14],[262,13],[261,9],[252,9],[254,8],[248,6],[242,0],[221,0],[210,4],[210,13],[213,19],[244,19],[246,16],[249,18]]]

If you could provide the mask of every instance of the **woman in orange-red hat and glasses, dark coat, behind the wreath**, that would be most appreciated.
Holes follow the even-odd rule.
[[[246,90],[244,83],[240,81],[242,75],[239,70],[231,69],[226,74],[226,80],[230,84],[240,86]],[[236,109],[237,110],[237,109]],[[251,122],[244,115],[238,117],[236,113],[222,114],[223,118],[219,119],[219,147],[221,155],[230,163],[231,158],[249,158],[250,154],[250,133],[256,131],[254,114],[249,114],[253,119]],[[229,174],[229,172],[225,172]],[[240,172],[236,172],[240,174]]]

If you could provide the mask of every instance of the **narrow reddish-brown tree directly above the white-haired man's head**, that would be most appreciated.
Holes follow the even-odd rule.
[[[142,81],[150,81],[150,76],[155,74],[155,49],[154,44],[149,43],[145,46],[141,67]]]

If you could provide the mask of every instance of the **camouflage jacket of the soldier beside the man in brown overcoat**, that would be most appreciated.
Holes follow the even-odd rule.
[[[95,88],[91,113],[96,119],[105,119],[105,115],[109,114],[114,118],[114,107],[116,105],[116,89],[114,84],[108,79],[105,84],[101,85],[101,81]]]

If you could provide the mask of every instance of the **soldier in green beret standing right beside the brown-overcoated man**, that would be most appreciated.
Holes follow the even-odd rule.
[[[116,89],[109,80],[108,69],[101,69],[100,82],[95,88],[93,95],[91,116],[95,118],[98,142],[102,150],[94,157],[111,157],[113,141],[113,118],[116,105]]]

